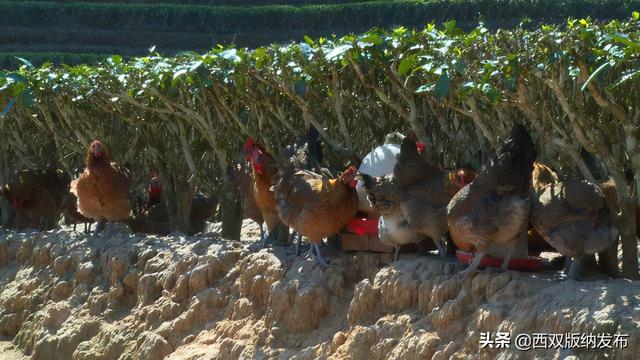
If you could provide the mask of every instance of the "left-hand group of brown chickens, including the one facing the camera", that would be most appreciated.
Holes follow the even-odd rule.
[[[130,174],[125,167],[111,162],[104,145],[96,140],[89,146],[84,169],[71,180],[70,175],[53,167],[45,170],[23,170],[2,187],[2,196],[13,208],[10,225],[16,229],[46,230],[57,225],[63,213],[68,225],[98,222],[96,233],[111,224],[125,221],[136,232],[166,235],[170,232],[169,215],[161,201],[162,187],[157,174],[149,186],[148,201],[142,209],[134,209],[130,193]],[[204,230],[206,221],[217,208],[217,198],[196,194],[191,206],[190,233]]]

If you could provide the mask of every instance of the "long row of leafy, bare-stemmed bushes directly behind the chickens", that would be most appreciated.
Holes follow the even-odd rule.
[[[278,153],[313,125],[339,169],[411,129],[443,165],[477,167],[523,122],[539,160],[564,177],[615,179],[623,273],[638,278],[638,17],[496,32],[452,21],[91,67],[25,61],[0,77],[0,180],[56,161],[73,168],[101,138],[138,176],[158,169],[184,219],[196,187],[230,183],[249,136]]]

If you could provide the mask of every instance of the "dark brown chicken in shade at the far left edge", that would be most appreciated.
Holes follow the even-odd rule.
[[[71,178],[63,170],[23,170],[6,184],[2,193],[16,211],[16,228],[53,228],[62,211]]]

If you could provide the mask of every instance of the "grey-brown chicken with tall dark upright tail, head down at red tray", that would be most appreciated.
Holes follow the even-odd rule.
[[[466,274],[478,268],[491,243],[508,246],[501,267],[506,270],[517,236],[527,236],[536,156],[527,129],[514,125],[509,139],[483,165],[476,179],[449,202],[447,223],[453,242],[456,246],[472,244],[478,251]]]

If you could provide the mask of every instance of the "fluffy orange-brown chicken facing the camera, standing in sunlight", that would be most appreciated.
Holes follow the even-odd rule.
[[[80,177],[71,182],[71,192],[78,198],[78,212],[101,223],[127,219],[131,211],[129,172],[111,162],[98,140],[89,146],[85,165]]]

